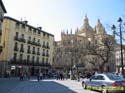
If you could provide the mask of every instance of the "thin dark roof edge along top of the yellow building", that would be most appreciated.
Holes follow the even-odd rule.
[[[16,20],[16,19],[14,19],[14,18],[12,18],[12,17],[9,17],[9,16],[4,16],[4,19],[9,19],[9,20],[12,20],[12,21],[15,21],[15,22],[19,22],[20,24],[24,24],[23,21]],[[28,26],[28,27],[31,27],[31,28],[33,28],[33,29],[39,30],[39,31],[41,31],[41,32],[43,32],[43,33],[49,34],[50,36],[54,37],[54,35],[52,35],[52,34],[50,34],[50,33],[47,33],[47,32],[45,32],[45,31],[43,31],[43,30],[40,30],[40,29],[38,29],[37,27],[33,27],[33,26],[31,26],[31,25],[28,25],[28,24],[25,24],[25,25]]]

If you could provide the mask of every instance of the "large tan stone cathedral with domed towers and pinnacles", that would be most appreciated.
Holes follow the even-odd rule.
[[[99,64],[101,64],[105,66],[104,69],[114,71],[114,53],[104,53],[104,51],[108,50],[106,43],[103,42],[104,40],[106,42],[106,39],[107,41],[110,40],[109,43],[110,45],[112,44],[110,49],[113,49],[113,35],[106,33],[100,19],[98,19],[95,28],[92,28],[89,25],[89,19],[86,15],[83,25],[81,28],[77,28],[74,34],[72,30],[61,32],[61,41],[55,43],[55,69],[67,70],[72,69],[78,64],[82,64],[86,69],[99,70]],[[97,47],[101,50],[100,54],[98,54],[99,52],[97,53]],[[109,52],[109,50],[107,52]],[[101,61],[105,61],[104,63],[106,64],[103,64],[103,62],[101,63]]]

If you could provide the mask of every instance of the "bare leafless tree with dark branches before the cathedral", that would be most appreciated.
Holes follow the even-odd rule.
[[[98,62],[93,63],[98,64],[99,71],[104,72],[104,68],[106,67],[106,64],[109,63],[110,58],[112,56],[112,51],[114,49],[113,47],[113,38],[106,37],[103,38],[102,42],[100,44],[96,44],[93,47],[90,47],[90,53],[97,56]]]

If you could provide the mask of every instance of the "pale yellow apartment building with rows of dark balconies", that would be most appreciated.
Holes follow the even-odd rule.
[[[2,41],[4,48],[0,55],[3,62],[2,73],[19,75],[21,71],[31,75],[47,73],[53,61],[54,35],[42,30],[42,27],[28,25],[28,21],[19,21],[4,17]]]

